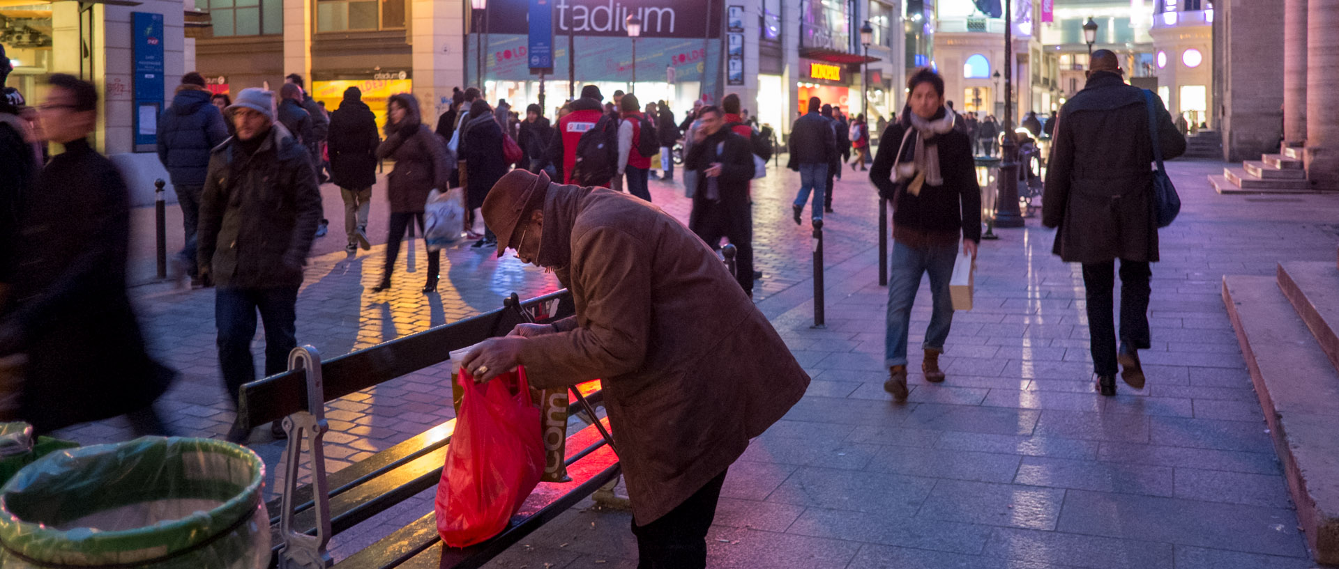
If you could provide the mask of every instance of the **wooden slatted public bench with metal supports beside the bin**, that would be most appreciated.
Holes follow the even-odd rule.
[[[513,294],[502,309],[329,361],[321,361],[311,346],[299,347],[289,357],[289,371],[242,386],[237,426],[253,429],[285,419],[289,435],[284,488],[266,504],[270,514],[270,568],[329,566],[325,545],[331,536],[437,486],[442,476],[455,419],[327,474],[321,451],[321,438],[327,430],[325,402],[443,363],[450,358],[451,350],[505,335],[518,323],[552,322],[573,313],[572,297],[566,291],[525,302],[518,302]],[[586,401],[601,401],[599,382],[582,383],[577,389]],[[576,405],[569,407],[569,414],[577,411]],[[309,450],[312,482],[299,486],[304,443]],[[572,482],[541,484],[510,526],[485,544],[467,549],[438,548],[443,549],[439,556],[441,566],[470,568],[487,562],[616,478],[617,458],[595,426],[570,434],[566,449]],[[418,536],[407,538],[407,532]],[[388,568],[398,565],[399,557],[424,553],[438,544],[432,512],[391,538],[395,540],[383,540],[340,565]],[[446,562],[447,558],[453,561]]]

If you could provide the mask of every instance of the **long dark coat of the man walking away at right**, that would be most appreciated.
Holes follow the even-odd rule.
[[[1185,138],[1154,96],[1162,158]],[[1158,260],[1153,215],[1153,139],[1144,89],[1094,72],[1058,115],[1042,196],[1042,224],[1059,227],[1054,252],[1067,263]]]

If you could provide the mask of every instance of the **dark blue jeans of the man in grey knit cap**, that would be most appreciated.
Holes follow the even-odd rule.
[[[250,341],[256,337],[257,313],[265,323],[265,375],[269,377],[288,369],[288,353],[297,347],[297,287],[214,291],[218,366],[233,405],[242,383],[256,381]]]

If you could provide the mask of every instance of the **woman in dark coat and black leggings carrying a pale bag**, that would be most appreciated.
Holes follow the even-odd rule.
[[[400,239],[404,230],[418,220],[423,230],[423,206],[432,188],[447,190],[450,170],[446,147],[422,122],[418,99],[410,93],[391,95],[390,116],[386,119],[386,140],[376,148],[378,158],[395,160],[386,184],[391,202],[391,228],[386,236],[386,268],[382,282],[372,287],[380,293],[391,287],[391,274],[395,272],[395,258],[400,254]],[[441,251],[427,254],[427,283],[423,293],[437,291],[437,276],[441,270]]]

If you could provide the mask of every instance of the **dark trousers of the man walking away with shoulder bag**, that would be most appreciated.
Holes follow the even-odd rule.
[[[1149,349],[1149,270],[1148,262],[1121,260],[1121,342],[1135,350]],[[1093,371],[1115,375],[1115,322],[1111,289],[1115,286],[1114,262],[1083,263],[1083,289],[1087,298],[1089,346]]]

